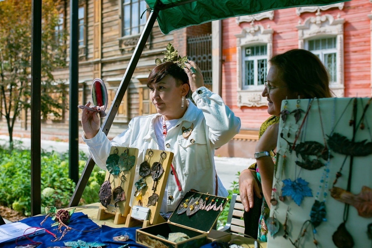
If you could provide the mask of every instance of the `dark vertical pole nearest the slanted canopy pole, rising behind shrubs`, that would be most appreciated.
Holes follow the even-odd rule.
[[[68,174],[76,184],[79,179],[79,128],[78,128],[78,84],[79,84],[79,54],[78,54],[78,0],[70,0],[70,123],[69,123],[69,153]]]

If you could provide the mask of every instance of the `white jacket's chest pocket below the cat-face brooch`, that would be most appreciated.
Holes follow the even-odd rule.
[[[186,139],[180,133],[178,144],[183,174],[211,168],[212,162],[209,159],[210,151],[208,149],[210,145],[207,144],[204,130],[194,129]]]

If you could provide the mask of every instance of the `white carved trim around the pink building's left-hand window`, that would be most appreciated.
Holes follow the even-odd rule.
[[[261,96],[264,86],[256,86],[251,89],[243,89],[242,73],[243,54],[242,51],[246,46],[267,45],[267,60],[273,54],[273,29],[268,25],[265,29],[262,25],[254,25],[251,22],[250,27],[243,28],[240,34],[236,34],[237,38],[237,106],[260,107],[266,106],[267,101]],[[269,71],[269,65],[267,71]]]

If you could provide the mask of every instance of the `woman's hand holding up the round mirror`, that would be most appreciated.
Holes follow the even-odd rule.
[[[85,104],[89,107],[90,102]],[[103,106],[102,106],[103,107]],[[93,106],[92,109],[100,109],[100,107]],[[81,112],[81,125],[83,126],[84,134],[87,139],[92,139],[99,131],[100,128],[100,116],[98,112],[83,109]]]

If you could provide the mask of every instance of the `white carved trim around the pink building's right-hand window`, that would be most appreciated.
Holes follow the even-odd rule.
[[[337,97],[344,96],[344,22],[337,15],[336,19],[329,15],[321,15],[318,11],[315,16],[305,19],[304,24],[296,26],[298,29],[298,48],[307,49],[307,41],[322,37],[336,36],[336,63],[337,82],[330,85],[331,90]]]

